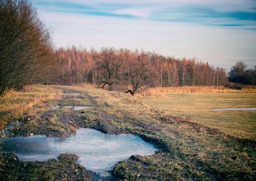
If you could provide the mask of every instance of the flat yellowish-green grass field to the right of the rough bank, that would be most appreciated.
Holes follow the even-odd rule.
[[[256,91],[222,93],[161,93],[160,97],[139,97],[174,116],[219,129],[236,137],[256,139],[256,111],[213,111],[218,108],[256,107]]]

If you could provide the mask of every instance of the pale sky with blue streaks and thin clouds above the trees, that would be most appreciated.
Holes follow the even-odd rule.
[[[256,65],[256,0],[31,0],[55,47],[195,58],[227,71]]]

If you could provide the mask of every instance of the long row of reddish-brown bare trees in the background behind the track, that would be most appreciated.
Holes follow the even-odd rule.
[[[165,57],[151,52],[133,52],[102,48],[100,51],[59,48],[55,51],[59,62],[59,83],[90,83],[114,86],[185,86],[224,85],[228,79],[223,68],[208,63]],[[136,68],[135,68],[136,67]],[[144,72],[138,72],[143,70]],[[134,72],[134,75],[132,74]],[[141,74],[139,76],[139,74]],[[128,80],[134,79],[134,80]],[[127,81],[128,80],[128,81]],[[134,82],[135,84],[135,82]],[[134,88],[134,87],[133,87]]]

